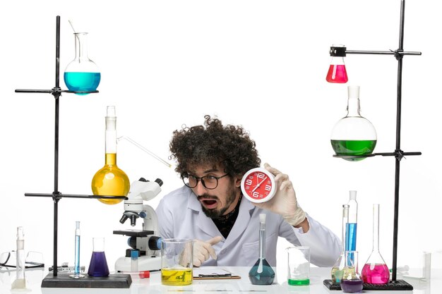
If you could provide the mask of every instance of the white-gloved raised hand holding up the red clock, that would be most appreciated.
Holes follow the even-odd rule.
[[[292,181],[289,180],[289,176],[281,173],[269,164],[264,164],[264,167],[275,176],[277,191],[275,196],[268,202],[253,204],[256,207],[280,214],[292,226],[299,225],[299,223],[306,219],[306,213],[298,205],[296,193],[294,192]]]

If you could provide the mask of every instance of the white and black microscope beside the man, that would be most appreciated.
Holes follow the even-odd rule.
[[[117,230],[114,234],[129,235],[128,245],[124,257],[115,262],[115,271],[131,271],[131,255],[138,253],[138,270],[153,271],[161,269],[161,238],[157,237],[157,214],[149,205],[143,205],[161,192],[162,180],[154,182],[140,178],[131,184],[131,189],[124,200],[124,214],[120,223],[130,219],[131,226],[136,225],[137,219],[143,219],[143,230]]]

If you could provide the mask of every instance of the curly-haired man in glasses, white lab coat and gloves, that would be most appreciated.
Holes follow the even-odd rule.
[[[241,178],[261,159],[241,126],[205,116],[204,125],[175,130],[170,142],[183,187],[162,198],[156,209],[162,238],[193,239],[193,265],[251,267],[258,257],[259,214],[266,214],[265,258],[276,266],[276,243],[310,247],[311,263],[331,267],[340,255],[339,238],[306,214],[285,173],[275,175],[277,192],[268,202],[241,195]]]

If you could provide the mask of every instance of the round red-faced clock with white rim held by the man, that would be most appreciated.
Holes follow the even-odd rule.
[[[275,176],[266,169],[251,169],[242,177],[241,190],[244,197],[251,202],[266,202],[275,195]]]

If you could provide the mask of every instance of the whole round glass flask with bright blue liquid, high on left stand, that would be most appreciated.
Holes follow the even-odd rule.
[[[76,32],[73,35],[76,40],[76,57],[64,70],[64,83],[70,91],[95,91],[100,84],[101,73],[97,65],[88,58],[88,33]]]

